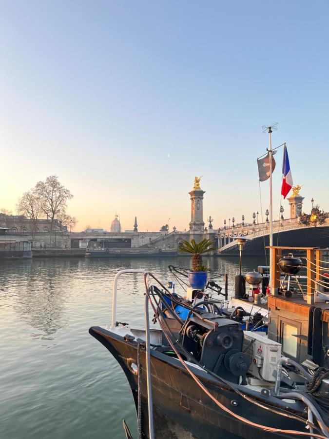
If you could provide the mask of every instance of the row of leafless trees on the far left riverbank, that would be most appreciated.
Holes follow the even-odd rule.
[[[56,175],[51,175],[25,192],[17,202],[17,213],[31,221],[33,232],[37,229],[38,220],[48,220],[52,232],[55,220],[58,221],[60,230],[65,227],[72,228],[77,220],[67,213],[67,202],[73,195],[63,186]],[[1,212],[11,215],[6,209]]]

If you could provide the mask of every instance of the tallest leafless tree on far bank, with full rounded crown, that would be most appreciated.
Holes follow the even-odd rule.
[[[41,202],[41,209],[50,221],[52,232],[55,218],[60,212],[65,212],[67,201],[71,200],[73,195],[60,184],[56,175],[47,177],[45,181],[38,181],[35,190]]]

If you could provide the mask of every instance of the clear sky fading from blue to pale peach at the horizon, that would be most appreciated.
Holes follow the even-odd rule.
[[[0,208],[55,174],[76,231],[116,212],[123,230],[184,230],[202,176],[204,220],[252,222],[269,205],[261,127],[278,122],[303,210],[329,211],[327,0],[0,4]]]

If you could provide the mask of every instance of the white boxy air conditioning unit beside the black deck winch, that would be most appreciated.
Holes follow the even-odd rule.
[[[251,360],[249,372],[257,379],[275,381],[276,365],[281,357],[281,344],[260,335],[244,331],[243,351]]]

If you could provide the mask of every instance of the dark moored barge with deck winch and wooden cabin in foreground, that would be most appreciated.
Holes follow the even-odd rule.
[[[145,278],[145,331],[116,322],[117,279],[136,271]],[[268,307],[209,292],[182,297],[151,273],[123,270],[112,324],[90,328],[128,379],[138,437],[329,437],[326,302],[310,307],[294,293]],[[149,305],[160,329],[149,329]]]

